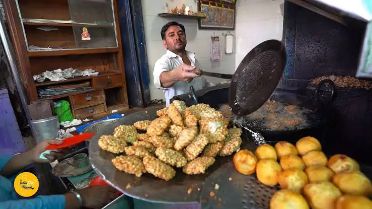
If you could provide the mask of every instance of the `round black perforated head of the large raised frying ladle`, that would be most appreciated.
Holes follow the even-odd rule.
[[[234,114],[248,115],[267,101],[279,83],[285,62],[284,45],[277,40],[262,42],[244,57],[229,88]]]

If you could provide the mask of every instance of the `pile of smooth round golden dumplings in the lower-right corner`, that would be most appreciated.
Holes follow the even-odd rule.
[[[293,146],[278,142],[262,145],[253,154],[241,150],[234,156],[236,169],[245,175],[256,172],[267,186],[279,184],[270,200],[271,209],[366,209],[372,208],[370,180],[360,172],[358,163],[346,155],[329,160],[319,141],[311,136]],[[278,163],[279,161],[279,163]]]

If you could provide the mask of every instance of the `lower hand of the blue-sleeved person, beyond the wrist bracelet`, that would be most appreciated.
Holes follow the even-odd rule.
[[[102,208],[120,196],[116,192],[115,188],[108,185],[90,186],[78,191],[83,206],[88,208]]]

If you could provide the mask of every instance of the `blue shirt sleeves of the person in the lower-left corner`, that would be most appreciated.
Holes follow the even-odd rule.
[[[0,171],[12,158],[0,155]],[[66,204],[64,195],[40,195],[35,198],[22,198],[14,189],[14,179],[0,175],[0,209],[63,209]]]

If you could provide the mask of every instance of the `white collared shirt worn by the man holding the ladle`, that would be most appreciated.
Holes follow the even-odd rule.
[[[186,55],[189,58],[192,66],[196,66],[197,69],[201,69],[200,62],[195,58],[195,53],[186,51]],[[178,81],[170,88],[163,88],[160,83],[160,75],[165,71],[171,71],[172,69],[177,68],[181,64],[183,64],[181,56],[169,50],[167,50],[167,53],[155,62],[154,84],[157,89],[163,89],[167,107],[169,105],[169,100],[172,99],[174,96],[190,92],[191,85],[194,87],[195,91],[203,89],[205,87],[214,86],[203,76],[201,76],[198,78],[194,78],[190,83]]]

